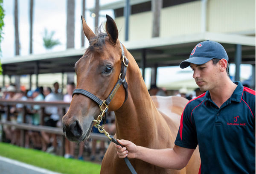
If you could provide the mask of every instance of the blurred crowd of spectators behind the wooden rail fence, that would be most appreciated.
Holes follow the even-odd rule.
[[[67,93],[63,95],[61,90],[59,89],[58,82],[55,82],[52,87],[38,87],[35,90],[18,90],[15,84],[10,84],[6,88],[1,89],[1,99],[6,100],[20,100],[20,101],[35,101],[35,102],[71,102],[73,90],[76,88],[74,83],[69,83],[66,86]],[[1,111],[1,120],[5,121],[7,119],[7,107],[4,105],[0,106]],[[25,123],[30,125],[40,125],[40,105],[26,105],[26,116]],[[65,108],[65,112],[67,112],[69,108]],[[22,114],[23,114],[23,104],[12,105],[10,108],[10,121],[13,123],[22,122]],[[59,127],[61,128],[61,118],[63,116],[63,112],[61,108],[57,106],[47,106],[44,108],[44,126],[51,127]],[[110,133],[115,133],[115,128],[113,124],[114,114],[109,118],[109,122],[111,124],[106,124],[105,129],[111,128]],[[1,126],[1,137],[2,141],[9,142],[14,145],[20,146],[20,129],[15,128],[14,126],[2,125]],[[99,133],[96,130],[93,132]],[[75,158],[77,157],[79,160],[84,159],[84,148],[85,146],[90,149],[90,160],[96,160],[96,146],[97,141],[93,140],[88,143],[79,143],[76,145],[75,142],[70,142],[65,138],[64,150],[65,158]],[[44,131],[25,131],[25,148],[34,148],[42,151],[46,151],[48,153],[56,153],[58,147],[61,144],[60,138],[54,133],[47,133]],[[78,148],[78,154],[75,155],[75,149]],[[102,160],[105,154],[106,145],[105,142],[100,142],[99,148],[99,158],[98,160]]]

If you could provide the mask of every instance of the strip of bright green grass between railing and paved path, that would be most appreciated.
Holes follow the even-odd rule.
[[[63,174],[99,174],[100,165],[0,142],[0,156]]]

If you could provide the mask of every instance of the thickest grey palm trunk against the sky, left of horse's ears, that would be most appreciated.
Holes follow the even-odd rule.
[[[75,0],[67,0],[67,48],[75,47]]]

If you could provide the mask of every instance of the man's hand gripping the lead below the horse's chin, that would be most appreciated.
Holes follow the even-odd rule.
[[[119,158],[136,158],[137,146],[134,143],[124,139],[117,139],[117,142],[124,146],[122,148],[120,145],[116,145],[116,151]]]

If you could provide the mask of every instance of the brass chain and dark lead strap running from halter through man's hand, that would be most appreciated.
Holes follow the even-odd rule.
[[[103,124],[102,126],[100,125],[100,122],[102,121],[102,117],[104,116],[106,110],[108,110],[108,105],[105,104],[105,100],[102,101],[103,104],[100,106],[99,105],[99,108],[101,110],[101,113],[99,114],[99,116],[97,117],[97,120],[93,120],[93,122],[95,122],[96,124],[94,125],[95,128],[97,128],[99,130],[100,133],[104,133],[105,136],[108,137],[108,139],[115,143],[116,145],[120,145],[121,147],[123,147],[119,142],[116,141],[116,139],[113,138],[113,136],[109,135],[109,133],[104,129],[104,125]],[[102,109],[102,106],[105,106],[104,109]],[[129,170],[131,171],[132,174],[137,174],[137,172],[135,171],[135,169],[133,168],[133,166],[131,165],[131,162],[129,161],[129,159],[127,157],[124,158],[125,160],[125,163],[127,165],[127,167],[129,168]]]

